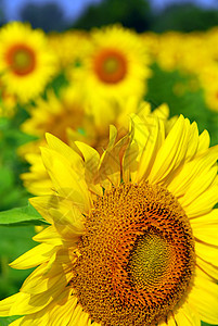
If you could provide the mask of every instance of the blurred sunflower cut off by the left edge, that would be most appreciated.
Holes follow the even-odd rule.
[[[55,72],[55,55],[42,30],[21,22],[0,30],[0,73],[8,91],[22,101],[35,98]]]

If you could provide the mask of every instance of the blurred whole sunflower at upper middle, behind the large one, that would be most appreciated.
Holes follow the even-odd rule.
[[[81,83],[88,100],[97,95],[118,100],[146,91],[150,60],[136,33],[119,25],[94,29],[90,33],[90,47],[84,52],[77,82]],[[72,74],[74,78],[74,70]]]

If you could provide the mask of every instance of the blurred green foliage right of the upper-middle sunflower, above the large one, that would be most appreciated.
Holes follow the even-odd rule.
[[[145,100],[153,108],[167,103],[170,115],[183,114],[191,122],[196,122],[200,133],[207,129],[210,134],[211,145],[218,143],[218,114],[208,110],[201,89],[191,90],[190,77],[181,75],[179,71],[164,72],[158,65],[153,65],[153,76],[149,79],[149,91]],[[175,91],[179,85],[182,93]]]

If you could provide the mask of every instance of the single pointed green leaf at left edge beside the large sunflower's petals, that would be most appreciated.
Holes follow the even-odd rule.
[[[0,212],[0,226],[48,224],[30,204],[24,208]]]

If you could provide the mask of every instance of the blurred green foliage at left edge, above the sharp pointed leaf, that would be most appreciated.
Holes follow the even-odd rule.
[[[21,109],[12,120],[0,118],[0,211],[27,204],[29,196],[20,179],[27,164],[17,155],[17,148],[34,139],[20,130],[27,116]]]

